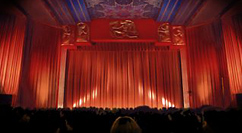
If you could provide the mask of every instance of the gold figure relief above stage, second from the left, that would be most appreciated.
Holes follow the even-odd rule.
[[[77,23],[76,42],[87,42],[89,40],[89,27],[83,22]]]

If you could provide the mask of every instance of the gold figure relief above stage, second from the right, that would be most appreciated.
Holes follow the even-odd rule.
[[[158,27],[158,36],[160,42],[171,42],[169,23],[163,23]]]

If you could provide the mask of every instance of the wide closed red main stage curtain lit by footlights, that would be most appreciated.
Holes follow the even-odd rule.
[[[182,107],[179,50],[110,43],[69,50],[65,107]]]

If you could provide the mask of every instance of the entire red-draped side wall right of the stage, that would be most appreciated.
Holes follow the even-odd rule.
[[[187,27],[191,107],[236,106],[242,92],[242,15]]]

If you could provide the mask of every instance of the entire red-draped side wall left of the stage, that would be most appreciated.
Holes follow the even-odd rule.
[[[61,30],[17,9],[0,18],[0,94],[13,106],[56,107]]]

